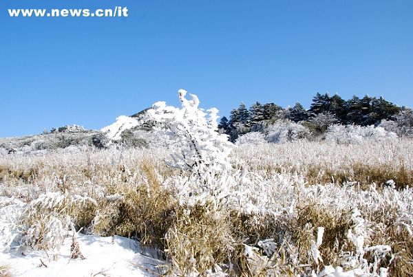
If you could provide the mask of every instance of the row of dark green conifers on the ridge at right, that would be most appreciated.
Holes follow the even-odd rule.
[[[219,128],[223,133],[230,135],[235,140],[239,135],[251,131],[259,131],[262,124],[271,124],[277,120],[290,120],[299,122],[311,128],[312,124],[319,126],[323,122],[319,133],[326,131],[330,124],[354,124],[359,126],[378,126],[383,120],[394,121],[403,113],[413,118],[410,108],[399,107],[384,98],[353,96],[343,100],[337,94],[330,96],[328,93],[317,93],[313,97],[310,109],[304,109],[297,102],[294,107],[283,109],[278,104],[255,102],[249,109],[242,102],[240,107],[233,109],[229,118],[225,116],[220,120]],[[413,124],[409,122],[408,124]],[[314,126],[313,126],[314,127]],[[320,126],[319,126],[320,127]]]

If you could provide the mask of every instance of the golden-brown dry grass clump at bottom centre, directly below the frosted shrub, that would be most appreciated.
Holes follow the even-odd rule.
[[[165,239],[167,254],[180,275],[195,269],[202,276],[215,264],[228,262],[233,244],[228,215],[211,203],[175,211]]]

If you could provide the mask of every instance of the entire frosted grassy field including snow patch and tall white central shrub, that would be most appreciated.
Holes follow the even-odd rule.
[[[0,155],[3,275],[413,274],[411,139],[232,144],[180,100],[148,112],[145,148]]]

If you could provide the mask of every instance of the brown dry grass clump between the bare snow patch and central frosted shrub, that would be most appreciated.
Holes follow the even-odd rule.
[[[150,162],[142,161],[141,184],[114,188],[123,197],[115,202],[102,203],[96,234],[135,237],[142,245],[165,247],[164,236],[169,230],[176,200],[160,186],[156,171]]]

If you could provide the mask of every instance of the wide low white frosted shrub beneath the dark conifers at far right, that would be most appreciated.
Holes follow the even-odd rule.
[[[385,131],[380,126],[335,124],[328,128],[326,141],[337,144],[360,144],[364,140],[394,140],[396,137],[395,133]]]

